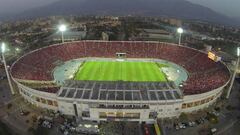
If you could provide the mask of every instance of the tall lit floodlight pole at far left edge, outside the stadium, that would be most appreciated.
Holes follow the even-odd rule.
[[[12,86],[12,83],[11,83],[11,78],[9,76],[9,73],[8,73],[8,69],[7,69],[7,64],[6,64],[6,60],[5,60],[5,56],[4,56],[4,52],[6,50],[6,45],[5,43],[2,43],[2,46],[1,46],[1,51],[2,51],[2,61],[3,61],[3,64],[4,64],[4,68],[5,68],[5,72],[6,72],[6,75],[7,75],[7,79],[8,79],[8,84],[9,84],[9,87],[10,87],[10,90],[11,90],[11,93],[13,95],[15,95],[15,92],[13,90],[13,86]]]

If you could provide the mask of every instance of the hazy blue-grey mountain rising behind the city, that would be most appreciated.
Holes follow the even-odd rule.
[[[59,0],[13,15],[12,18],[51,15],[168,16],[234,26],[239,23],[210,8],[186,0]]]

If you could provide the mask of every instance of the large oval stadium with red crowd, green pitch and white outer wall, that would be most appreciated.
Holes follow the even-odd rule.
[[[153,122],[207,108],[230,72],[207,52],[150,41],[78,41],[29,52],[11,66],[33,105],[93,121]]]

